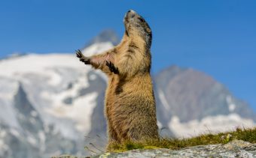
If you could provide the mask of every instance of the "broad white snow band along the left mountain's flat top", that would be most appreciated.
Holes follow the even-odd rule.
[[[18,76],[24,73],[46,73],[50,67],[83,67],[74,54],[29,54],[20,58],[8,58],[0,62],[0,76]],[[52,73],[49,73],[51,76]]]

